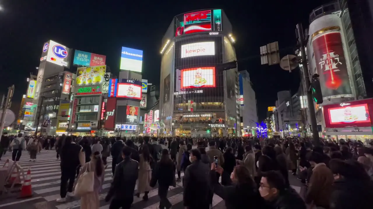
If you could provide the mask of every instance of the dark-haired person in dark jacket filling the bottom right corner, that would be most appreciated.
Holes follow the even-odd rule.
[[[373,183],[363,165],[352,160],[332,159],[329,166],[334,177],[330,209],[372,208],[368,202],[373,197]]]

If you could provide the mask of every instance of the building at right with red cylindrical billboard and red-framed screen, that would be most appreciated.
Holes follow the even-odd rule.
[[[313,104],[320,136],[373,137],[372,101],[365,99],[373,96],[372,11],[371,1],[339,0],[311,12],[306,51],[310,74],[319,74],[323,94],[323,103]]]

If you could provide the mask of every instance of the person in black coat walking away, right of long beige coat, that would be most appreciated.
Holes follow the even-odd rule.
[[[156,164],[150,180],[151,187],[155,187],[158,181],[159,208],[169,209],[172,206],[167,193],[170,186],[176,187],[175,170],[176,166],[170,159],[168,150],[163,149],[162,158]]]

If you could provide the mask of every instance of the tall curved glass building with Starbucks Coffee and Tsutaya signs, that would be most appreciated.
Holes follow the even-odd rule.
[[[238,71],[232,25],[221,9],[173,18],[160,51],[160,122],[167,136],[241,133]],[[172,125],[173,124],[173,125]]]

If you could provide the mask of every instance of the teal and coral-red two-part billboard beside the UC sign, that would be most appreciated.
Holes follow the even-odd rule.
[[[74,65],[83,66],[100,66],[105,65],[106,56],[100,54],[93,54],[90,52],[75,50],[74,54]]]

